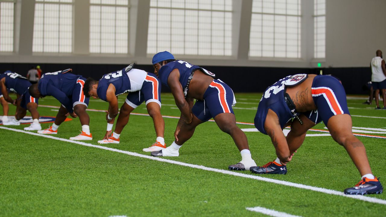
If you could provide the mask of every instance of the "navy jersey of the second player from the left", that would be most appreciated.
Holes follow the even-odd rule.
[[[39,92],[42,96],[55,97],[66,107],[68,112],[72,113],[73,103],[70,97],[73,94],[78,78],[81,78],[81,75],[62,73],[62,71],[45,73],[39,80]]]

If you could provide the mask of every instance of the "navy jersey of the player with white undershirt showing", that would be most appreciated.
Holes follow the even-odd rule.
[[[103,75],[98,82],[97,95],[101,100],[107,102],[106,93],[108,85],[113,84],[115,86],[115,95],[129,92],[131,89],[130,79],[125,71],[125,68],[119,71],[108,73]]]

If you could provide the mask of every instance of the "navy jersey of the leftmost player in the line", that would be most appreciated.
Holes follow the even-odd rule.
[[[31,86],[29,80],[15,72],[6,71],[0,75],[0,79],[5,78],[5,86],[13,92],[22,95]]]

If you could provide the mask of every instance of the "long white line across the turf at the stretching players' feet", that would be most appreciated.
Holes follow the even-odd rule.
[[[37,133],[34,133],[34,132],[29,132],[29,131],[22,131],[22,130],[19,130],[19,129],[13,129],[13,128],[2,127],[2,126],[0,126],[0,129],[5,129],[5,130],[8,130],[8,131],[15,131],[15,132],[22,132],[22,133],[25,133],[25,134],[46,137],[46,138],[49,138],[49,139],[56,139],[56,140],[60,140],[60,141],[64,141],[64,142],[71,142],[71,143],[75,143],[75,144],[80,144],[82,146],[96,147],[96,148],[105,149],[105,150],[108,150],[108,151],[114,151],[114,152],[118,152],[118,153],[128,154],[128,155],[131,155],[131,156],[136,156],[136,157],[140,157],[140,158],[147,158],[147,159],[151,159],[151,160],[154,160],[154,161],[161,161],[161,162],[166,162],[166,163],[171,163],[171,164],[177,164],[177,165],[180,165],[180,166],[187,166],[187,167],[190,167],[190,168],[196,168],[196,169],[201,169],[201,170],[206,170],[206,171],[212,171],[212,172],[222,173],[222,174],[227,174],[227,175],[232,175],[232,176],[251,178],[251,179],[254,179],[254,180],[266,181],[266,182],[275,183],[275,184],[279,184],[279,185],[291,186],[291,187],[295,187],[295,188],[302,188],[302,189],[311,190],[311,191],[314,191],[314,192],[327,193],[327,194],[331,194],[331,195],[338,195],[338,196],[342,196],[342,197],[354,198],[354,199],[357,199],[357,200],[362,200],[362,201],[366,201],[366,202],[370,202],[370,203],[379,203],[379,204],[386,205],[386,200],[382,200],[382,199],[378,199],[378,198],[374,198],[374,197],[366,197],[366,196],[362,196],[362,195],[345,195],[343,192],[338,192],[338,191],[330,190],[330,189],[326,189],[326,188],[319,188],[319,187],[314,187],[314,186],[309,186],[309,185],[293,183],[293,182],[289,182],[289,181],[282,181],[282,180],[276,180],[276,179],[271,179],[271,178],[265,178],[265,177],[261,177],[261,176],[257,176],[257,175],[248,175],[248,174],[245,174],[245,173],[237,173],[237,172],[229,171],[229,170],[220,170],[220,169],[216,169],[216,168],[210,168],[210,167],[200,166],[200,165],[190,164],[190,163],[183,163],[183,162],[180,162],[180,161],[173,161],[173,160],[164,159],[164,158],[156,158],[156,157],[153,157],[153,156],[148,156],[148,155],[145,155],[145,154],[139,154],[139,153],[135,153],[135,152],[131,152],[131,151],[123,151],[123,150],[119,150],[119,149],[115,149],[115,148],[99,146],[99,145],[93,145],[93,144],[86,143],[86,142],[73,141],[73,140],[69,140],[69,139],[63,139],[63,138],[49,136],[49,135],[44,135],[44,134],[37,134]]]

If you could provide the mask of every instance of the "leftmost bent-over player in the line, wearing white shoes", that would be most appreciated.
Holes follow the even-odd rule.
[[[27,110],[31,113],[32,123],[29,127],[24,127],[25,131],[37,131],[42,127],[39,123],[39,112],[37,111],[38,99],[31,97],[28,88],[31,86],[29,80],[17,73],[5,71],[0,75],[0,102],[3,105],[4,116],[2,118],[3,125],[20,125],[20,119],[24,118]],[[8,90],[16,93],[17,98],[12,100],[8,95]],[[15,118],[8,121],[8,104],[16,105]]]

